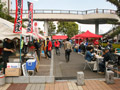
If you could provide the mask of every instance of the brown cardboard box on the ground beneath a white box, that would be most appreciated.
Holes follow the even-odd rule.
[[[20,76],[21,69],[20,68],[6,68],[5,76]]]

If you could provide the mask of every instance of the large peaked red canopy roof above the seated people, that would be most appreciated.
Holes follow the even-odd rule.
[[[78,37],[82,37],[82,38],[102,38],[101,35],[97,35],[97,34],[91,33],[88,30],[85,33],[76,35],[76,38],[78,38]]]

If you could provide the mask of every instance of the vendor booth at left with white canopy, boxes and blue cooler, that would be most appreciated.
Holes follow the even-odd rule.
[[[35,69],[39,69],[39,60],[37,53],[33,48],[32,52],[29,51],[29,47],[34,47],[33,39],[45,39],[40,34],[36,33],[26,33],[26,29],[22,28],[22,33],[13,33],[14,24],[0,18],[0,40],[3,44],[4,39],[10,39],[14,45],[14,51],[9,56],[9,62],[7,63],[7,68],[5,69],[5,76],[28,76],[28,71],[32,71],[34,75]],[[20,37],[23,37],[20,41]],[[32,43],[32,44],[31,44]],[[1,45],[0,48],[3,48]],[[21,50],[21,52],[20,52]],[[27,50],[27,53],[25,52]],[[1,50],[2,51],[2,50]],[[2,55],[0,56],[2,58]]]

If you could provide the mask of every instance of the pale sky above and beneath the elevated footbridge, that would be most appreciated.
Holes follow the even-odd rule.
[[[15,0],[12,1],[12,9],[15,9]],[[23,0],[23,9],[28,9],[27,1],[33,3],[34,9],[54,9],[54,10],[90,10],[90,9],[113,9],[116,7],[107,0]],[[38,24],[41,29],[44,29],[43,22]],[[109,31],[113,25],[100,25],[99,33]],[[94,25],[79,24],[79,30],[95,32]]]

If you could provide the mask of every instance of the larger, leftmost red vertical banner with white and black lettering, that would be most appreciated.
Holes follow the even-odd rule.
[[[16,14],[13,33],[22,33],[23,0],[16,0]]]

